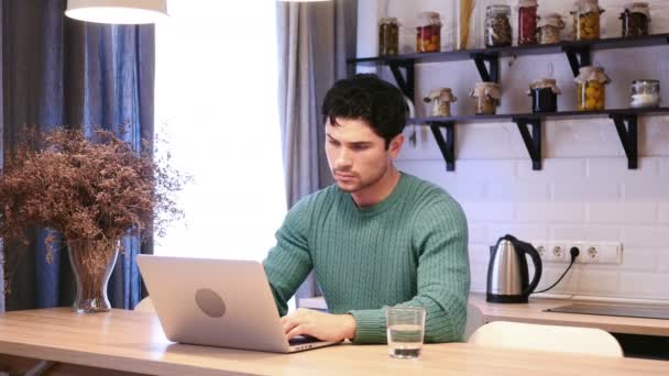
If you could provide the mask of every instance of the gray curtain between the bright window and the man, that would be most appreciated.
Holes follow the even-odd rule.
[[[278,104],[288,207],[332,184],[322,145],[320,106],[355,55],[357,0],[277,2]],[[318,294],[312,275],[297,298]]]

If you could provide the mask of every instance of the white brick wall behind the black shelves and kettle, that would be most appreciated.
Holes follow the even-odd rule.
[[[416,14],[440,11],[450,24],[450,1],[380,0],[382,12],[405,24],[403,38],[413,46]],[[485,4],[487,0],[480,1]],[[495,0],[515,5],[516,1]],[[651,32],[669,32],[669,1],[651,0]],[[572,1],[540,1],[540,13],[566,13]],[[600,0],[605,36],[618,36],[624,0]],[[375,22],[371,19],[370,22]],[[514,22],[515,23],[515,22]],[[448,27],[445,27],[448,29]],[[570,30],[570,20],[568,27]],[[443,31],[445,35],[449,30]],[[365,43],[365,41],[359,41]],[[448,42],[445,42],[447,44]],[[669,106],[669,47],[606,51],[593,54],[606,68],[612,84],[607,108],[628,106],[629,84],[637,78],[661,80]],[[523,56],[502,60],[503,101],[500,113],[528,112],[524,91],[529,81],[552,68],[563,95],[561,110],[575,107],[573,76],[564,55]],[[393,81],[387,70],[380,70]],[[425,64],[416,70],[418,114],[428,110],[420,95],[434,87],[451,87],[459,97],[453,113],[471,113],[468,91],[479,81],[471,62]],[[434,181],[458,199],[470,225],[472,290],[485,290],[489,245],[512,233],[524,240],[588,240],[623,243],[622,265],[575,265],[551,292],[608,297],[669,299],[669,117],[639,121],[639,168],[627,161],[613,122],[604,118],[549,121],[544,129],[544,169],[531,163],[513,123],[472,123],[457,126],[454,173],[446,172],[441,153],[427,128],[418,131],[418,144],[406,145],[401,169]],[[539,285],[548,287],[566,264],[545,264]]]

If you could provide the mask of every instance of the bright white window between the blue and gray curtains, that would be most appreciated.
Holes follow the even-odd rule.
[[[156,254],[261,261],[275,243],[286,212],[275,13],[274,0],[171,1],[156,25],[156,134],[194,178],[178,196],[186,223]]]

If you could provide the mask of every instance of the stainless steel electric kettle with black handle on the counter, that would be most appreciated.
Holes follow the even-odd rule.
[[[535,275],[528,283],[528,269],[525,255],[535,264]],[[487,294],[485,300],[491,302],[527,302],[541,278],[541,257],[535,247],[512,235],[500,237],[491,247],[487,265]]]

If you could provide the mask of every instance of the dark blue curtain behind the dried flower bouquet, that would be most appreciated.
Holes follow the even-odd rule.
[[[54,126],[96,126],[114,132],[140,150],[153,137],[154,27],[103,25],[65,18],[66,1],[2,2],[3,147],[11,152],[24,124],[41,131]],[[125,128],[127,132],[120,132]],[[21,250],[6,244],[6,308],[68,306],[75,285],[64,246],[47,263],[47,230],[31,231]],[[109,283],[114,308],[133,308],[142,287],[134,258],[151,253],[152,243],[123,240]],[[21,256],[19,256],[21,254]]]

